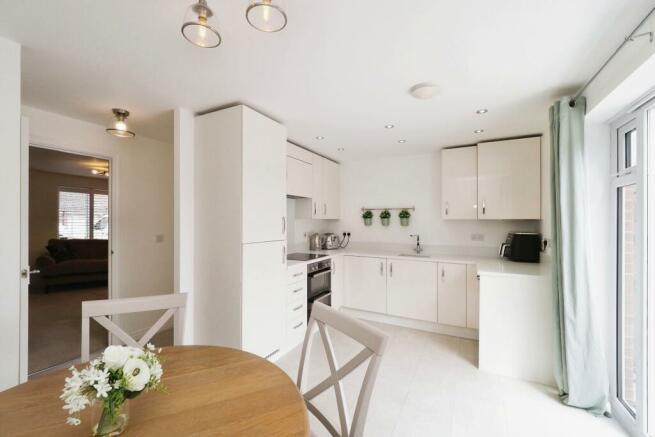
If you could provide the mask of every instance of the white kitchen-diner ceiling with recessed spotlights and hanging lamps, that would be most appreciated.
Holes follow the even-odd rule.
[[[242,102],[339,160],[415,153],[541,133],[553,98],[579,87],[654,5],[278,0],[289,24],[265,34],[247,24],[247,0],[209,0],[223,44],[199,49],[179,30],[190,3],[0,0],[0,35],[24,46],[24,103],[100,124],[124,107],[138,135],[171,141],[172,108]],[[434,99],[409,96],[423,81],[439,85]]]

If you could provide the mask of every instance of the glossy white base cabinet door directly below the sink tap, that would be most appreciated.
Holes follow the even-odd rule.
[[[390,259],[387,289],[389,314],[437,322],[437,264]]]

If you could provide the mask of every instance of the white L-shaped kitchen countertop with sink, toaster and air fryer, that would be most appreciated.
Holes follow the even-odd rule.
[[[404,249],[404,250],[403,250]],[[328,257],[351,255],[351,256],[369,256],[380,257],[388,259],[399,260],[412,260],[422,262],[451,262],[461,264],[475,264],[480,276],[507,276],[507,275],[522,275],[522,276],[544,276],[549,274],[550,266],[546,261],[541,263],[518,263],[501,259],[498,256],[489,255],[489,250],[480,250],[475,253],[471,248],[438,248],[426,247],[421,255],[424,257],[416,256],[401,256],[400,254],[412,254],[412,248],[403,247],[385,247],[376,245],[354,245],[345,249],[334,250],[321,250],[309,251],[303,248],[294,248],[289,253],[318,253],[325,254]],[[482,253],[480,253],[482,252]],[[485,253],[486,252],[486,253]],[[544,257],[542,257],[544,258]],[[287,261],[288,267],[294,267],[300,264],[309,264],[318,260],[309,261]]]

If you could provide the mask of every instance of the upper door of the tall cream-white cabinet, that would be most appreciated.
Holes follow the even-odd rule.
[[[286,128],[243,110],[243,242],[286,239]],[[232,214],[225,211],[225,214]]]

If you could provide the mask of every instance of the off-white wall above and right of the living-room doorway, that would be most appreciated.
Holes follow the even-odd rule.
[[[107,135],[101,125],[29,106],[22,109],[30,121],[33,145],[111,161],[112,297],[171,293],[173,145],[139,136],[139,132],[134,139],[120,139]],[[153,317],[143,316],[119,320],[135,335],[152,322]]]

